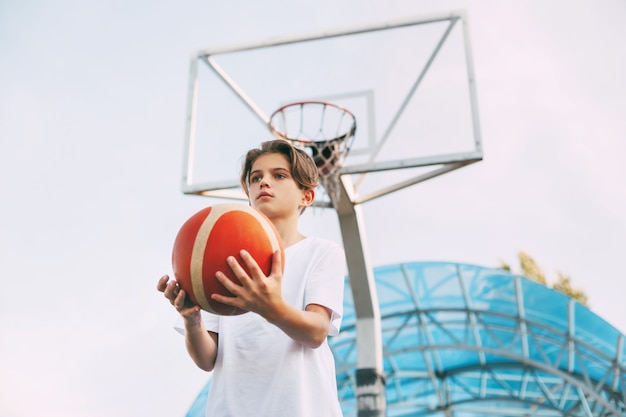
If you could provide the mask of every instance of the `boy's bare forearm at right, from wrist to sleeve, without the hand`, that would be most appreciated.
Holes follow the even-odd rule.
[[[316,304],[311,304],[307,310],[302,311],[281,303],[265,318],[296,342],[315,349],[328,336],[330,315],[330,310]]]

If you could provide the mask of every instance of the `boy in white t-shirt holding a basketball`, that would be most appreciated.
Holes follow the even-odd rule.
[[[285,246],[265,276],[245,251],[227,259],[241,285],[222,272],[233,294],[212,298],[249,311],[218,316],[191,305],[177,283],[157,289],[180,313],[180,331],[198,367],[211,371],[207,417],[340,417],[335,364],[326,341],[339,332],[345,257],[336,243],[300,233],[300,215],[315,199],[313,159],[285,140],[246,154],[241,185],[249,204],[274,224]],[[282,273],[282,265],[285,265]]]

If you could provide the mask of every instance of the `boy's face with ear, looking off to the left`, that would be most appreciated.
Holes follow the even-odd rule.
[[[279,153],[258,157],[249,175],[250,205],[270,219],[299,216],[311,205],[313,190],[302,190],[291,175],[287,158]]]

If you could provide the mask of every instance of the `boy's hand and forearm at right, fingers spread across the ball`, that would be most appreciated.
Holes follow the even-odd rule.
[[[302,311],[287,304],[282,298],[282,259],[280,251],[274,253],[272,272],[265,276],[254,258],[241,251],[241,258],[246,263],[250,275],[239,265],[234,257],[227,262],[241,285],[233,283],[226,275],[218,272],[219,281],[234,294],[225,297],[213,294],[211,297],[221,303],[229,304],[248,311],[253,311],[285,332],[302,345],[317,348],[326,336],[330,326],[331,311],[317,304],[310,304]]]

